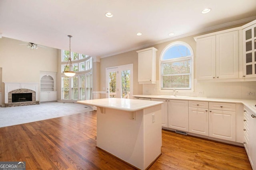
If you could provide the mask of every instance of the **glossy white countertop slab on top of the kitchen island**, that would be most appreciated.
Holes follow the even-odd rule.
[[[164,102],[122,99],[122,98],[104,98],[104,99],[94,99],[94,100],[82,100],[82,101],[78,101],[77,103],[87,104],[90,106],[124,110],[124,111],[138,111],[141,109],[145,109],[147,107],[162,104]]]

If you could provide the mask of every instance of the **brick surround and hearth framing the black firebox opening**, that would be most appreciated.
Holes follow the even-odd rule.
[[[32,102],[15,102],[12,103],[12,94],[17,93],[32,93]],[[36,101],[36,92],[29,89],[16,89],[8,92],[8,103],[5,104],[5,107],[15,107],[15,106],[27,106],[39,104],[39,101]]]

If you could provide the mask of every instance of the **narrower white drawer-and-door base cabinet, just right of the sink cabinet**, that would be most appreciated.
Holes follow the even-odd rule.
[[[188,101],[189,132],[209,136],[208,102]]]

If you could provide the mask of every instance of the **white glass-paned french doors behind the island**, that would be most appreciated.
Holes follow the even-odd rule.
[[[128,98],[133,95],[133,64],[106,68],[106,98]]]

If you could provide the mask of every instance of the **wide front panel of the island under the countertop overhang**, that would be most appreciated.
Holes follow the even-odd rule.
[[[105,108],[101,113],[97,108],[97,147],[114,156],[144,169],[144,123],[143,111],[133,112]]]

